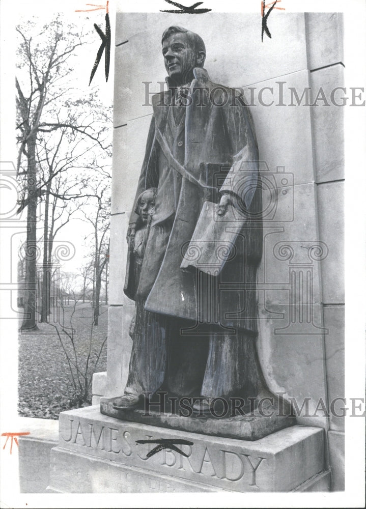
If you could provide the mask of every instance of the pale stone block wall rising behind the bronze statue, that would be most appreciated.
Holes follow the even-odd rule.
[[[264,202],[263,371],[271,390],[299,407],[308,401],[298,423],[326,430],[333,489],[343,490],[344,421],[321,411],[344,395],[343,108],[329,100],[343,86],[342,16],[278,11],[270,23],[262,43],[258,13],[117,14],[108,361],[94,377],[94,403],[122,394],[127,381],[126,231],[152,115],[146,91],[160,91],[161,34],[178,24],[203,37],[211,80],[243,88],[252,104]],[[295,92],[305,94],[300,105]]]

